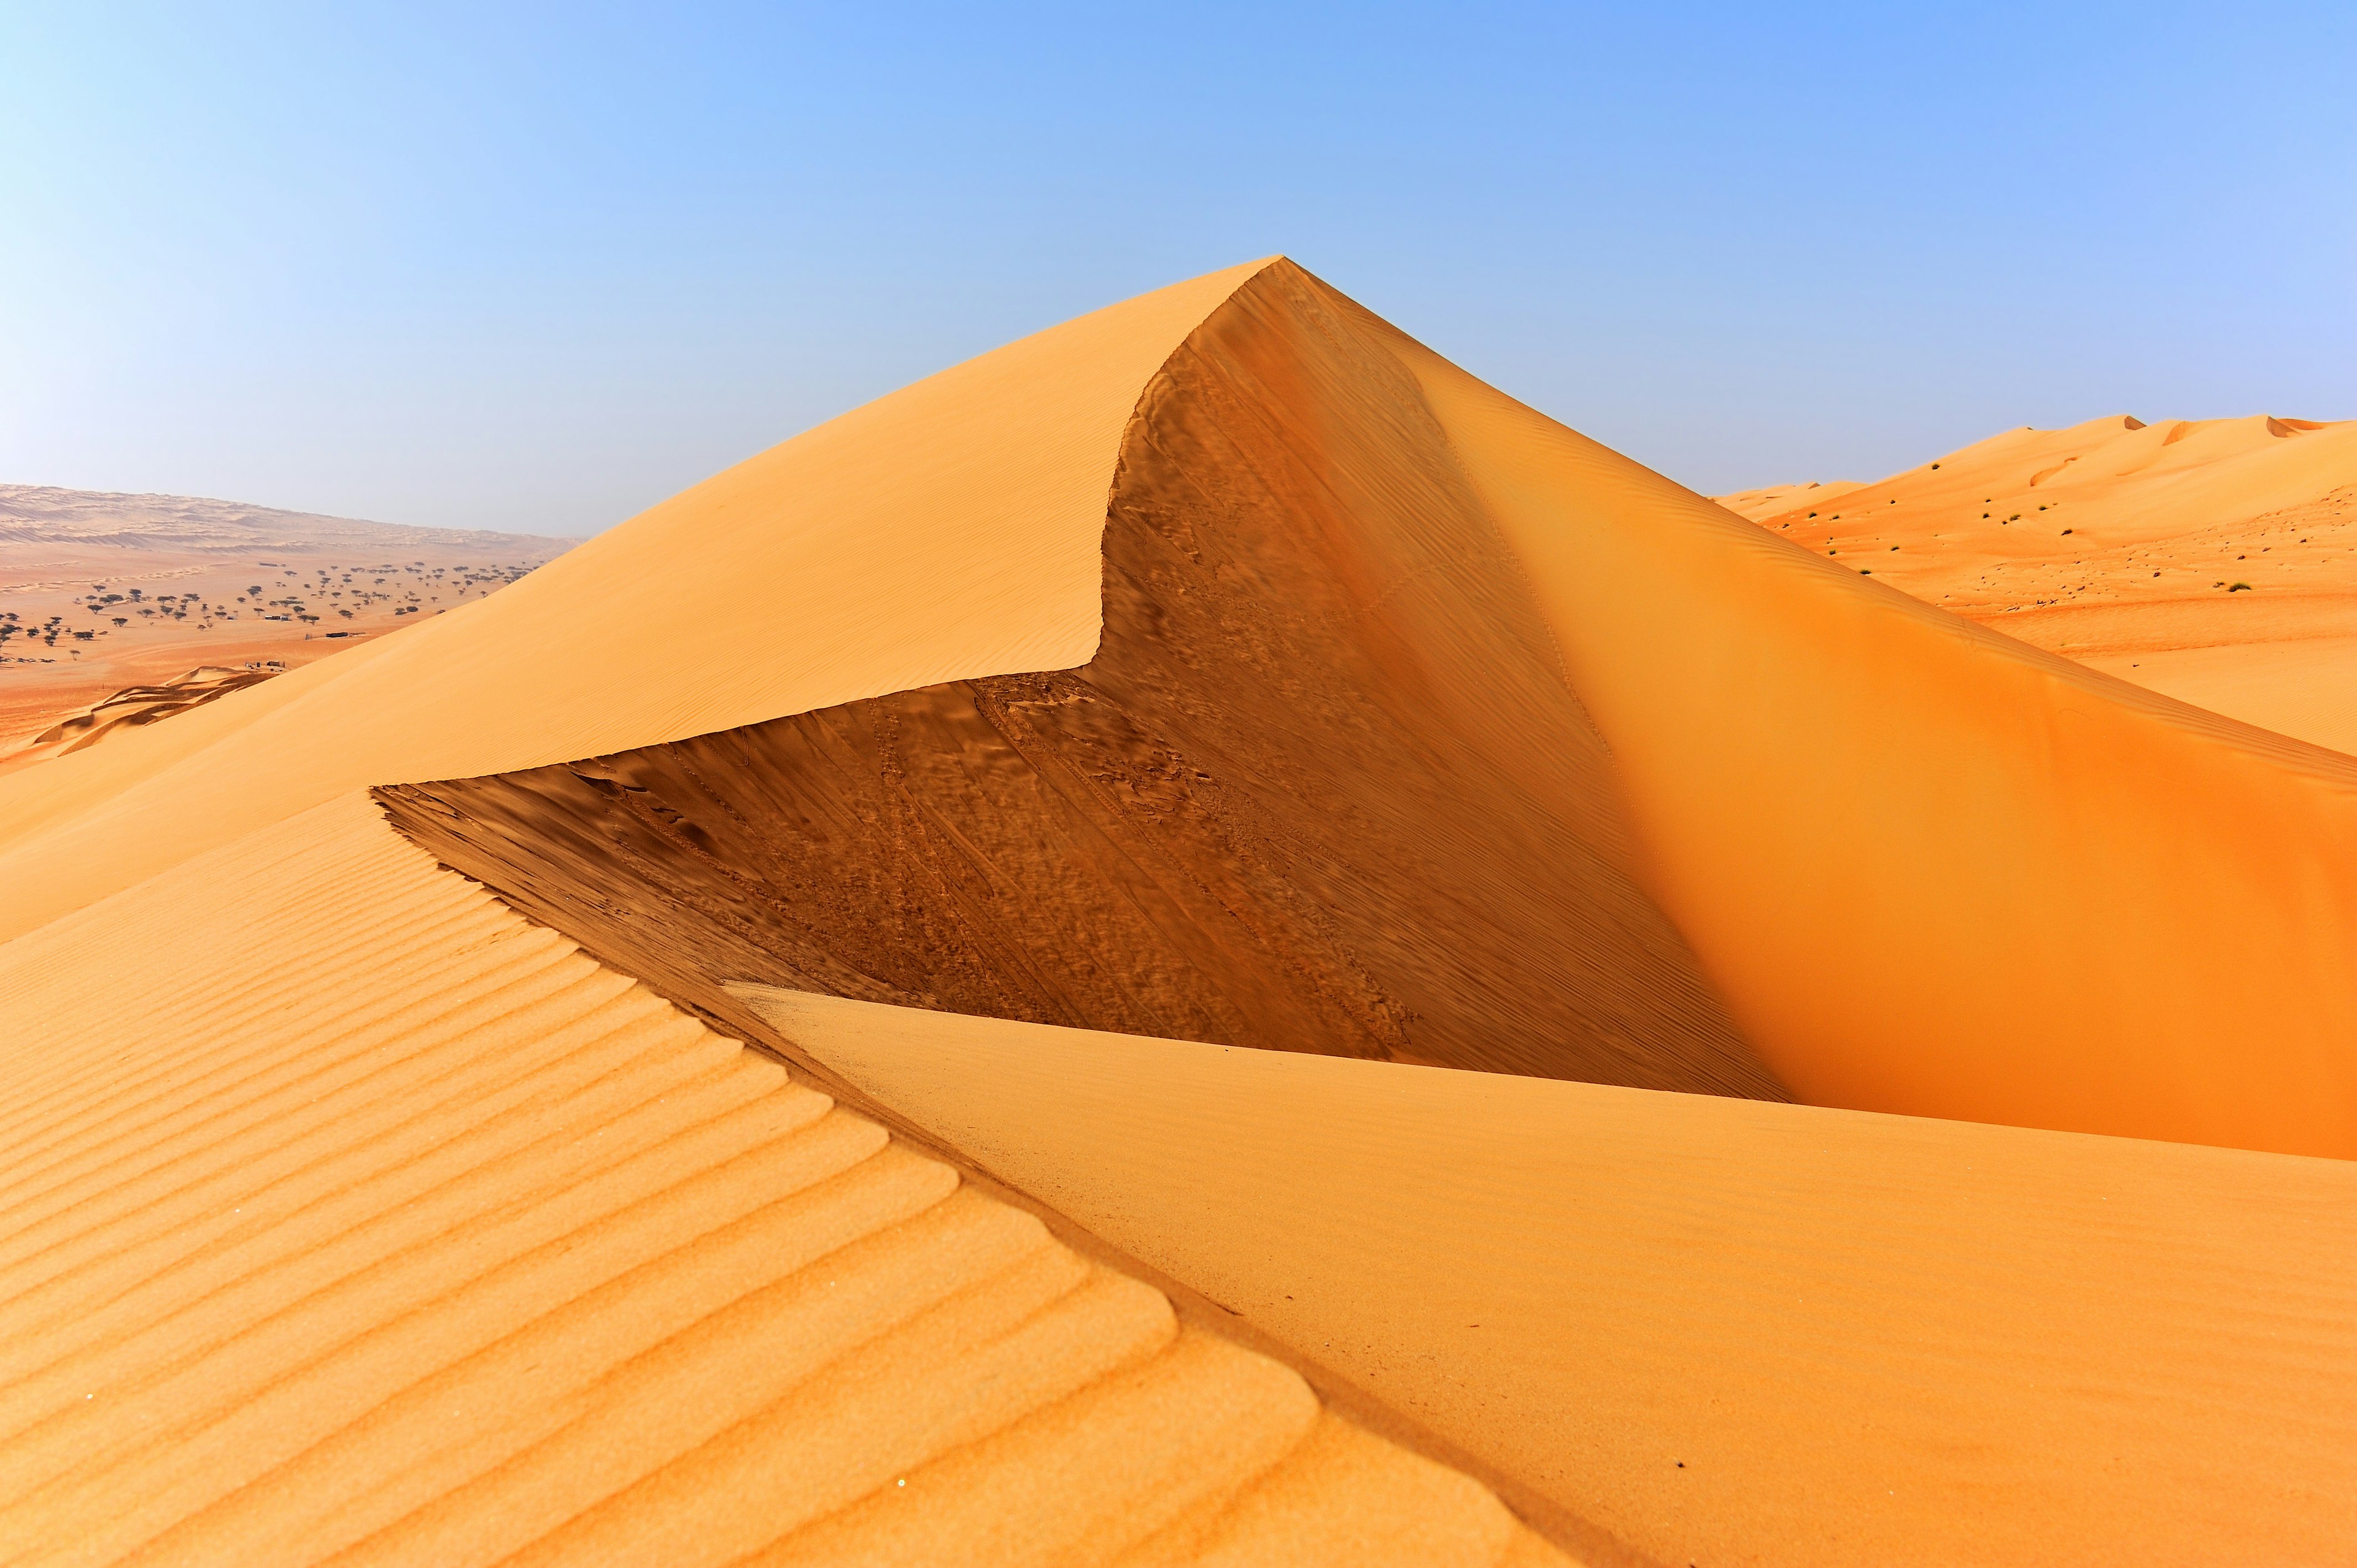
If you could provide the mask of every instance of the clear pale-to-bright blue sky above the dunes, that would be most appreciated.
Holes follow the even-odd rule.
[[[1702,490],[2357,417],[2357,7],[0,9],[5,481],[592,533],[1268,252]]]

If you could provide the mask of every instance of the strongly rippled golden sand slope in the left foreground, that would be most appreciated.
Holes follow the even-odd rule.
[[[365,797],[0,946],[0,1040],[12,1561],[1565,1561]]]

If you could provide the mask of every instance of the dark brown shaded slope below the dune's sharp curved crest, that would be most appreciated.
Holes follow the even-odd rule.
[[[719,981],[1782,1096],[1414,380],[1282,262],[1138,401],[1087,665],[379,799],[740,1030]]]

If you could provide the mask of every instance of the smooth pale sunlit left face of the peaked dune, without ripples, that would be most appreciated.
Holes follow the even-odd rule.
[[[1138,389],[1261,262],[856,408],[490,599],[0,778],[0,938],[361,785],[676,740],[1096,648]]]

